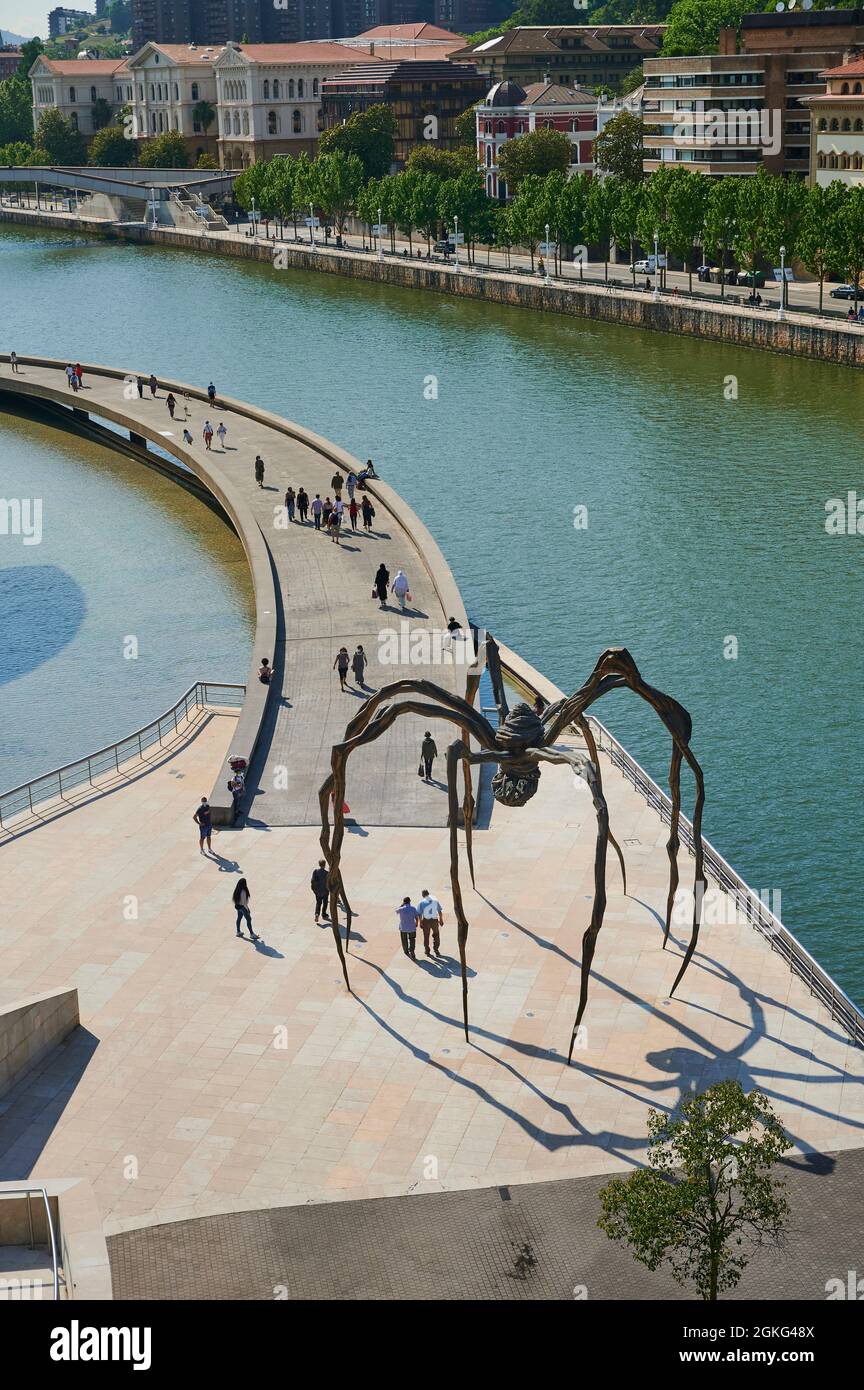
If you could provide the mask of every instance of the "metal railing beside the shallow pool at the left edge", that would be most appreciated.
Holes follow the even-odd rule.
[[[126,762],[136,753],[139,758],[143,758],[144,748],[150,748],[157,742],[163,744],[165,733],[178,731],[178,713],[181,710],[183,717],[189,719],[193,709],[207,709],[214,705],[239,708],[243,703],[244,694],[246,685],[229,681],[196,681],[181,695],[171,709],[160,714],[158,719],[150,720],[142,728],[126,734],[125,738],[119,738],[114,744],[107,744],[94,753],[88,753],[86,758],[76,758],[71,763],[64,763],[63,767],[54,767],[40,777],[21,783],[19,787],[11,787],[8,791],[0,792],[0,827],[4,827],[4,815],[8,820],[21,816],[26,810],[32,812],[39,802],[49,801],[51,796],[60,796],[61,801],[65,801],[65,791],[82,784],[92,787],[94,773],[99,776],[106,771],[119,771],[121,762]],[[165,726],[168,727],[165,728]]]

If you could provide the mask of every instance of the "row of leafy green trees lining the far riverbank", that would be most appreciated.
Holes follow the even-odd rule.
[[[513,142],[517,143],[517,142]],[[708,178],[682,167],[660,168],[642,182],[599,179],[588,174],[568,178],[561,170],[545,177],[526,174],[510,203],[486,195],[474,168],[435,171],[422,160],[401,174],[367,179],[358,156],[336,150],[314,160],[301,154],[254,164],[235,182],[240,207],[256,208],[279,225],[304,220],[310,211],[332,221],[340,238],[349,215],[367,224],[382,221],[394,246],[401,232],[411,246],[417,234],[426,245],[442,227],[464,234],[468,259],[475,247],[525,247],[532,259],[549,239],[556,259],[564,249],[596,247],[608,274],[610,247],[629,249],[631,265],[639,247],[654,242],[679,260],[690,275],[699,257],[711,257],[724,270],[736,263],[749,271],[786,264],[797,257],[820,281],[846,275],[858,284],[864,274],[864,188],[833,182],[807,188],[801,179],[760,171],[751,178]],[[633,271],[635,278],[635,271]]]

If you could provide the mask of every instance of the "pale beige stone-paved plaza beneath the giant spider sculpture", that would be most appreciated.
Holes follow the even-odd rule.
[[[76,986],[82,1027],[0,1102],[0,1179],[88,1177],[117,1233],[581,1177],[642,1162],[649,1108],[728,1076],[765,1091],[801,1155],[861,1145],[861,1051],[751,927],[706,926],[667,998],[681,956],[681,940],[661,949],[667,831],[604,755],[631,895],[610,865],[588,1045],[567,1068],[592,897],[586,788],[545,767],[528,806],[496,805],[476,831],[476,892],[463,859],[465,1044],[446,831],[346,835],[349,997],[313,922],[311,827],[217,831],[215,858],[199,853],[192,812],[232,730],[211,717],[147,776],[4,845],[0,1004]],[[257,947],[235,935],[239,872]],[[393,908],[424,887],[445,905],[443,965],[400,949]]]

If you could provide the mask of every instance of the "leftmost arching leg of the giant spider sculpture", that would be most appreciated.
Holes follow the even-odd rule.
[[[435,696],[442,696],[446,703],[432,705],[424,701],[407,699],[397,705],[383,705],[375,713],[372,719],[367,710],[368,705],[372,705],[372,712],[381,705],[382,698],[386,698],[388,692],[396,691],[397,694],[407,694],[410,691],[419,689],[422,694],[432,694]],[[318,792],[318,803],[321,806],[321,849],[329,865],[328,873],[328,890],[329,890],[329,908],[331,908],[331,929],[333,931],[333,940],[336,942],[336,949],[339,954],[339,960],[342,963],[342,973],[344,983],[350,990],[347,960],[342,948],[342,935],[339,931],[339,899],[342,898],[346,905],[347,923],[350,931],[351,922],[351,908],[344,892],[344,884],[342,880],[342,844],[344,840],[344,778],[346,778],[346,764],[349,755],[360,748],[363,744],[374,742],[381,734],[393,724],[393,721],[400,714],[422,714],[426,719],[446,719],[453,724],[460,724],[468,727],[472,734],[475,734],[483,744],[493,748],[495,735],[486,720],[471,709],[461,701],[457,695],[451,695],[449,691],[439,689],[431,681],[394,681],[390,687],[383,687],[376,691],[375,695],[369,696],[358,714],[347,726],[346,734],[349,735],[342,744],[333,744],[331,751],[331,774],[322,783]],[[365,717],[364,717],[365,716]],[[465,751],[467,751],[467,745]],[[333,826],[331,833],[329,823],[329,803],[333,803]],[[467,796],[465,810],[474,808],[474,798]],[[471,816],[468,816],[468,824],[471,824]]]

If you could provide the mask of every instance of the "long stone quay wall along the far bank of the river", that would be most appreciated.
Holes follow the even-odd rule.
[[[140,224],[100,222],[68,214],[28,213],[22,208],[1,208],[0,221],[63,227],[67,231],[88,232],[111,240],[269,261],[283,271],[308,270],[326,275],[346,275],[400,289],[424,289],[547,314],[596,318],[632,328],[647,328],[653,332],[706,338],[736,348],[760,348],[764,352],[864,368],[864,327],[843,321],[833,324],[813,314],[788,311],[781,320],[776,310],[760,311],[743,304],[708,304],[670,293],[656,299],[650,291],[607,288],[601,284],[563,285],[553,281],[546,285],[536,277],[474,268],[457,271],[454,267],[428,265],[399,256],[386,256],[379,261],[374,253],[335,247],[313,250],[311,246],[271,242],[264,238],[251,239],[236,234],[185,232]]]

